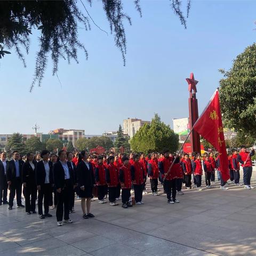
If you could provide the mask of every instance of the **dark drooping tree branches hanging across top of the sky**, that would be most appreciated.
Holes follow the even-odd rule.
[[[91,21],[94,25],[96,24],[83,1],[80,2],[86,15],[79,9],[76,0],[0,1],[0,57],[10,53],[4,51],[3,45],[8,49],[14,48],[26,67],[20,46],[25,47],[28,54],[30,35],[34,32],[32,28],[35,28],[39,33],[39,50],[36,54],[35,74],[30,91],[35,83],[38,83],[38,86],[41,85],[49,55],[53,62],[53,75],[58,71],[58,63],[61,58],[67,60],[68,63],[72,59],[78,63],[78,49],[84,51],[87,59],[87,51],[83,43],[79,42],[77,31],[81,26],[86,30],[91,29]],[[92,6],[92,0],[87,0],[87,3]],[[122,0],[102,0],[102,4],[110,25],[110,31],[114,34],[115,44],[121,51],[125,65],[126,34],[124,21],[126,20],[131,25],[131,18],[124,12]],[[140,0],[134,0],[134,5],[141,16]],[[180,0],[171,0],[171,8],[186,28],[186,18],[181,11]],[[187,0],[187,17],[189,10],[190,0]],[[97,27],[102,30],[99,26]]]

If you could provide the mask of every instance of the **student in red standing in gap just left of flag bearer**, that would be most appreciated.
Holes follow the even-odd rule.
[[[151,154],[151,159],[148,162],[148,177],[150,178],[150,185],[153,196],[158,196],[157,185],[159,177],[158,163],[156,161],[156,154]]]

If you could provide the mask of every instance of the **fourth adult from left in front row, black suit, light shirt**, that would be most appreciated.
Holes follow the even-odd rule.
[[[52,162],[49,162],[49,151],[42,150],[41,157],[43,160],[36,165],[36,185],[38,189],[38,214],[40,219],[52,217],[49,213],[49,200],[52,196],[53,174]],[[44,199],[44,214],[43,214]]]

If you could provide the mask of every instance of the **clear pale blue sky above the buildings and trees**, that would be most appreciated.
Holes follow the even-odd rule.
[[[185,10],[186,1],[182,2]],[[256,1],[192,1],[187,29],[174,15],[170,1],[142,0],[142,18],[133,1],[124,1],[124,10],[132,19],[132,26],[125,23],[124,67],[102,3],[94,1],[92,7],[84,3],[108,35],[92,22],[90,31],[79,29],[89,59],[79,51],[79,64],[61,60],[61,84],[52,76],[49,59],[42,86],[29,92],[38,50],[37,31],[30,38],[27,68],[14,49],[0,60],[0,134],[33,133],[35,123],[43,133],[64,128],[102,134],[116,131],[123,119],[150,121],[154,113],[172,126],[173,118],[188,117],[185,78],[193,72],[199,81],[200,114],[219,86],[222,75],[218,69],[228,70],[256,38]]]

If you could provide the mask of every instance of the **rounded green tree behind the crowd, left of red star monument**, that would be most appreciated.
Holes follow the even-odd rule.
[[[143,153],[161,152],[165,148],[174,152],[178,145],[179,135],[173,132],[170,125],[161,122],[157,114],[151,124],[143,125],[131,139],[132,150]]]

